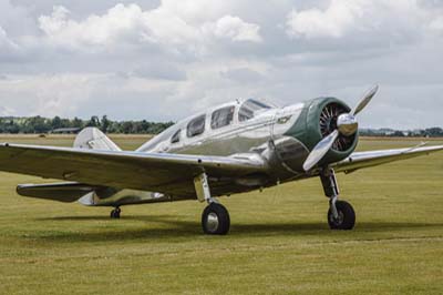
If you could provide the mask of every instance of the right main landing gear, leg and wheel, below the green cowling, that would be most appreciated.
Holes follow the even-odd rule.
[[[339,201],[340,190],[333,169],[320,172],[324,194],[329,197],[328,224],[331,230],[349,231],[356,225],[356,212],[351,204]]]

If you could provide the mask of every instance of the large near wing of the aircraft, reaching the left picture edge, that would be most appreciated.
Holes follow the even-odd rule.
[[[199,156],[0,144],[0,171],[90,185],[195,195],[194,177],[213,179],[266,173],[260,156]],[[216,195],[216,194],[214,194]]]

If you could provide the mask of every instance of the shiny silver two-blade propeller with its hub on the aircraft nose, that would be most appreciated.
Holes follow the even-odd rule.
[[[360,103],[350,113],[339,115],[339,118],[337,119],[337,130],[322,139],[313,148],[308,159],[305,161],[305,171],[310,171],[315,165],[318,164],[318,162],[321,161],[321,159],[323,159],[323,156],[329,152],[340,134],[351,136],[358,131],[359,123],[356,119],[356,115],[359,114],[369,104],[369,102],[372,100],[378,91],[379,87],[373,87],[363,95],[363,98],[360,100]]]

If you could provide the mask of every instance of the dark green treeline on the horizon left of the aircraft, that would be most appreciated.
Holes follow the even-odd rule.
[[[90,120],[62,119],[54,116],[52,119],[42,116],[31,118],[0,118],[0,133],[50,133],[60,129],[83,129],[95,126],[105,133],[125,133],[125,134],[158,134],[174,122],[148,122],[142,121],[113,121],[106,115],[101,119],[96,115]]]

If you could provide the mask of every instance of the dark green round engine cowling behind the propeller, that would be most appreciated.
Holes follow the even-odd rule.
[[[306,102],[296,123],[285,135],[292,136],[306,145],[309,151],[337,129],[337,119],[351,109],[336,98],[319,98]],[[357,148],[358,132],[351,136],[340,136],[332,149],[319,162],[319,166],[339,162],[348,157]]]

